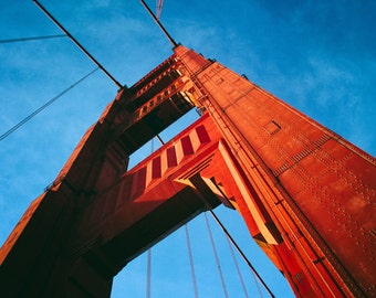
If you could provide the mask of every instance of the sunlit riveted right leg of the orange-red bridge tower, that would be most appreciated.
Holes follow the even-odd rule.
[[[197,71],[200,55],[176,51],[278,230],[259,243],[296,296],[375,295],[375,159],[219,63]]]

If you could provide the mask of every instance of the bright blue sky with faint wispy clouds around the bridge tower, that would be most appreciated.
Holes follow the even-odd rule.
[[[155,1],[147,2],[155,10]],[[171,54],[171,45],[137,0],[41,3],[128,86]],[[61,34],[31,0],[0,0],[0,40]],[[161,12],[163,23],[177,42],[246,74],[373,156],[375,19],[376,2],[370,0],[165,0]],[[1,43],[0,135],[94,68],[67,38]],[[54,180],[116,92],[113,82],[97,71],[0,141],[1,243],[30,202]],[[167,140],[196,117],[189,116],[161,137]],[[150,148],[144,148],[134,160]],[[217,213],[275,296],[291,297],[289,286],[253,245],[241,219],[226,209]],[[211,226],[217,228],[213,223]],[[221,297],[203,217],[191,222],[189,228],[200,297]],[[223,235],[215,234],[230,297],[242,297]],[[194,296],[184,230],[153,248],[152,273],[152,297]],[[247,269],[244,278],[249,295],[258,295]],[[113,297],[145,297],[145,284],[146,257],[140,256],[116,277]]]

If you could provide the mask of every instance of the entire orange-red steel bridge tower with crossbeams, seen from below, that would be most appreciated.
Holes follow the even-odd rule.
[[[199,120],[127,170],[192,107]],[[1,248],[1,294],[108,297],[129,260],[223,203],[297,297],[375,296],[375,191],[373,157],[177,45],[119,91],[30,205]]]

